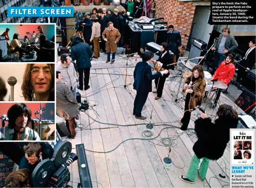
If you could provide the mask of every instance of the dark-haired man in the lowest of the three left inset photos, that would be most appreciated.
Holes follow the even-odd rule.
[[[24,103],[17,103],[11,106],[7,112],[9,118],[8,126],[5,127],[6,140],[37,140],[40,141],[37,132],[28,126],[31,123],[32,112]]]

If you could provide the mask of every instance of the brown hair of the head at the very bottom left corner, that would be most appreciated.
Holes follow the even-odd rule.
[[[29,188],[29,175],[26,169],[19,169],[9,174],[5,180],[6,188]]]

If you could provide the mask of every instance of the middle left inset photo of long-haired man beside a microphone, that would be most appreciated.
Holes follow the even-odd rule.
[[[55,101],[54,64],[0,64],[0,101]]]

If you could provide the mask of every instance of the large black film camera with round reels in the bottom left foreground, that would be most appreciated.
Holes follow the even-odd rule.
[[[70,172],[67,168],[78,156],[71,153],[72,144],[68,141],[61,142],[54,150],[52,159],[39,162],[32,173],[34,188],[65,188],[70,181]]]

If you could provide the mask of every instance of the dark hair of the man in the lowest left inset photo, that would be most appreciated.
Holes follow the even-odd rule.
[[[19,117],[23,113],[27,114],[26,127],[28,127],[29,123],[31,122],[31,116],[32,116],[32,112],[28,108],[28,106],[24,103],[17,103],[12,105],[9,108],[7,112],[7,116],[9,118],[8,126],[10,127],[10,129],[14,128],[17,117]]]

